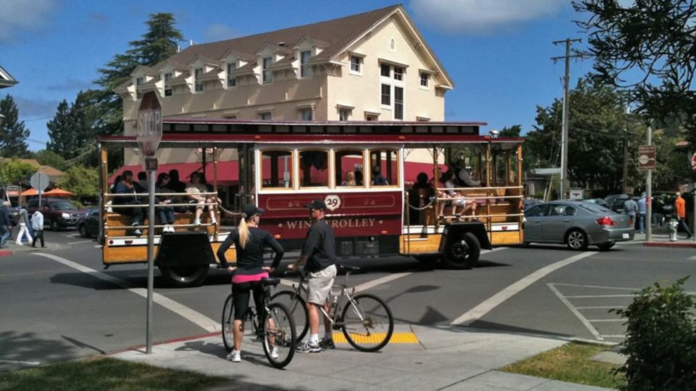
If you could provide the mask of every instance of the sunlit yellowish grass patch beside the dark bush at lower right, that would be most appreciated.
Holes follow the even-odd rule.
[[[619,388],[626,385],[623,375],[612,372],[619,365],[602,363],[590,358],[610,347],[583,342],[569,342],[537,356],[526,358],[500,368],[501,371],[550,378],[569,383]]]

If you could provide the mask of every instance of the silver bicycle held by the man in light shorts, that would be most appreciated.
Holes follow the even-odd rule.
[[[378,351],[388,344],[394,333],[394,317],[391,310],[382,299],[374,294],[358,293],[355,288],[349,288],[348,276],[357,272],[359,267],[336,265],[345,272],[341,285],[333,285],[332,290],[339,288],[340,294],[330,294],[329,313],[322,306],[317,306],[320,312],[329,319],[333,330],[341,330],[352,347],[360,351]],[[306,299],[307,286],[305,274],[299,273],[299,283],[292,285],[292,290],[276,292],[271,296],[271,302],[283,303],[290,310],[295,326],[299,327],[297,340],[301,341],[309,328]],[[338,311],[342,305],[342,311]]]

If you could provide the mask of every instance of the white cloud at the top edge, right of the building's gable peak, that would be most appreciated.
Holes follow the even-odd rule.
[[[412,0],[413,17],[448,33],[487,33],[557,14],[567,0]]]

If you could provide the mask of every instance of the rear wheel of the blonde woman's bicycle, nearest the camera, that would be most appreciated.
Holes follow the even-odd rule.
[[[297,334],[290,311],[280,303],[270,303],[266,322],[263,324],[263,352],[276,368],[290,364],[295,354]]]

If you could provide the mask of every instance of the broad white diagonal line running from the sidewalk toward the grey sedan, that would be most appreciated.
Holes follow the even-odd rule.
[[[504,290],[501,290],[500,292],[489,297],[489,299],[483,301],[478,306],[475,306],[474,308],[468,310],[467,313],[465,313],[464,315],[461,315],[457,319],[454,319],[454,321],[450,324],[452,324],[454,326],[457,326],[457,325],[466,326],[466,325],[472,324],[473,322],[477,321],[478,319],[480,319],[481,317],[483,317],[487,313],[491,312],[491,310],[493,310],[493,308],[500,306],[501,303],[503,303],[504,301],[506,301],[510,297],[513,297],[515,294],[517,294],[521,290],[527,288],[529,285],[532,285],[533,283],[539,281],[539,279],[544,278],[544,276],[546,276],[552,272],[555,272],[557,269],[560,269],[561,267],[571,265],[571,263],[575,263],[578,260],[581,260],[583,258],[587,258],[588,256],[592,256],[596,253],[597,253],[597,251],[586,251],[586,252],[580,253],[576,256],[571,256],[570,258],[566,258],[566,259],[560,260],[556,263],[552,263],[551,265],[548,265],[546,267],[542,267],[541,269],[530,274],[529,276],[522,278],[520,281],[517,281],[516,283],[505,288]]]

